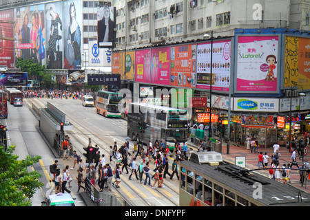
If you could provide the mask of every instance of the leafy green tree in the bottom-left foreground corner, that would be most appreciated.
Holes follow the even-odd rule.
[[[28,171],[32,164],[39,162],[40,156],[18,160],[14,155],[15,146],[6,151],[0,146],[0,206],[31,206],[30,199],[36,189],[43,186],[39,181],[41,173]]]

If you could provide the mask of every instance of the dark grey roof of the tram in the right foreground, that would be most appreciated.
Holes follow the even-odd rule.
[[[254,183],[262,183],[262,197],[255,200],[265,206],[310,206],[310,193],[254,172],[250,172],[249,178],[247,175],[242,177],[240,173],[234,175],[234,172],[229,173],[229,170],[235,168],[246,169],[228,162],[220,163],[218,166],[211,166],[210,164],[199,164],[193,159],[189,159],[180,162],[180,167],[192,170],[194,177],[195,174],[198,174],[223,188],[227,188],[232,192],[239,192],[239,194],[251,199],[254,199],[254,196],[258,193],[258,185],[254,186]],[[302,198],[298,197],[298,192],[301,192]],[[298,202],[298,198],[302,202]]]

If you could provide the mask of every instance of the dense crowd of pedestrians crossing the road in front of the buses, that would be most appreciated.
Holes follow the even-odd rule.
[[[56,138],[56,137],[55,137]],[[88,178],[92,183],[93,187],[97,187],[99,191],[105,189],[112,191],[112,187],[119,188],[122,182],[122,178],[128,178],[132,180],[132,176],[135,177],[140,184],[152,186],[152,188],[163,188],[164,179],[169,176],[169,179],[173,179],[174,175],[179,179],[178,175],[178,162],[183,159],[187,159],[187,144],[174,143],[174,149],[172,153],[169,150],[169,145],[165,146],[163,142],[152,144],[149,142],[145,148],[141,144],[138,144],[137,151],[130,153],[129,151],[129,141],[126,138],[120,147],[114,142],[114,146],[110,146],[110,155],[108,161],[105,159],[105,155],[100,153],[100,150],[96,152],[96,158],[91,164],[83,159],[80,155],[74,151],[72,143],[70,142],[70,137],[65,135],[63,142],[61,143],[61,148],[63,152],[63,159],[72,159],[72,168],[66,166],[63,172],[60,173],[58,162],[55,161],[57,166],[56,170],[51,170],[53,175],[53,180],[56,186],[57,192],[68,192],[71,188],[70,181],[72,177],[69,170],[76,169],[78,174],[76,180],[78,183],[78,190],[86,189],[83,186],[85,183],[85,178]],[[192,148],[191,148],[192,151]],[[191,152],[189,151],[189,152]],[[172,167],[169,168],[169,157],[174,157],[174,162]],[[154,164],[154,166],[151,165]],[[128,169],[130,167],[130,170]],[[153,175],[151,174],[153,170]],[[128,175],[125,177],[125,174]],[[144,178],[144,181],[143,181]],[[67,188],[68,184],[68,188]]]

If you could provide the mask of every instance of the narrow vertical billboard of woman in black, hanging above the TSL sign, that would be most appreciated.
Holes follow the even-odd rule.
[[[97,11],[97,32],[99,47],[113,47],[116,32],[116,8],[104,6]]]

